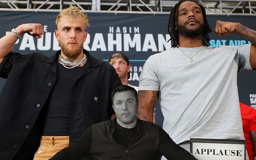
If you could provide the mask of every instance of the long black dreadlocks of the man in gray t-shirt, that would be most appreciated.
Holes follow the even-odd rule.
[[[210,40],[208,34],[211,32],[211,29],[210,29],[210,26],[206,19],[205,9],[201,4],[199,4],[197,1],[194,1],[194,0],[179,1],[174,6],[174,8],[170,11],[170,16],[169,16],[169,21],[168,21],[168,33],[170,35],[170,39],[168,41],[173,40],[172,47],[178,47],[178,45],[179,45],[179,32],[178,32],[178,30],[176,30],[176,25],[178,24],[178,11],[179,11],[180,4],[182,4],[183,2],[186,2],[186,1],[191,1],[191,2],[196,3],[202,10],[203,18],[204,18],[204,25],[205,25],[205,30],[202,34],[203,35],[202,40],[203,40],[203,45],[208,46],[208,43]]]

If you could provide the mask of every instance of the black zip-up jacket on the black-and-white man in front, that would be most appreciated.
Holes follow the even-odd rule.
[[[127,146],[117,141],[121,132],[116,125],[116,120],[94,124],[50,160],[79,160],[88,154],[95,160],[159,160],[161,155],[170,160],[196,160],[156,124],[137,119],[135,135]]]

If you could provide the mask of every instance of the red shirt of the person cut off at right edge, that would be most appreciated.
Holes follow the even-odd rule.
[[[253,141],[250,131],[256,131],[256,110],[246,104],[240,103],[241,116],[243,121],[244,138],[249,160],[254,159]]]

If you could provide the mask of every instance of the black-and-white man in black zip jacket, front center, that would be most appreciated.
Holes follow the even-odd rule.
[[[116,87],[111,95],[116,119],[104,121],[88,128],[70,147],[51,160],[81,159],[91,155],[94,159],[195,160],[188,151],[173,142],[158,125],[137,119],[137,92],[127,85]]]

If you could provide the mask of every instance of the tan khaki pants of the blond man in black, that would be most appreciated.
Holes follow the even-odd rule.
[[[46,160],[69,146],[69,136],[42,136],[34,160]]]

